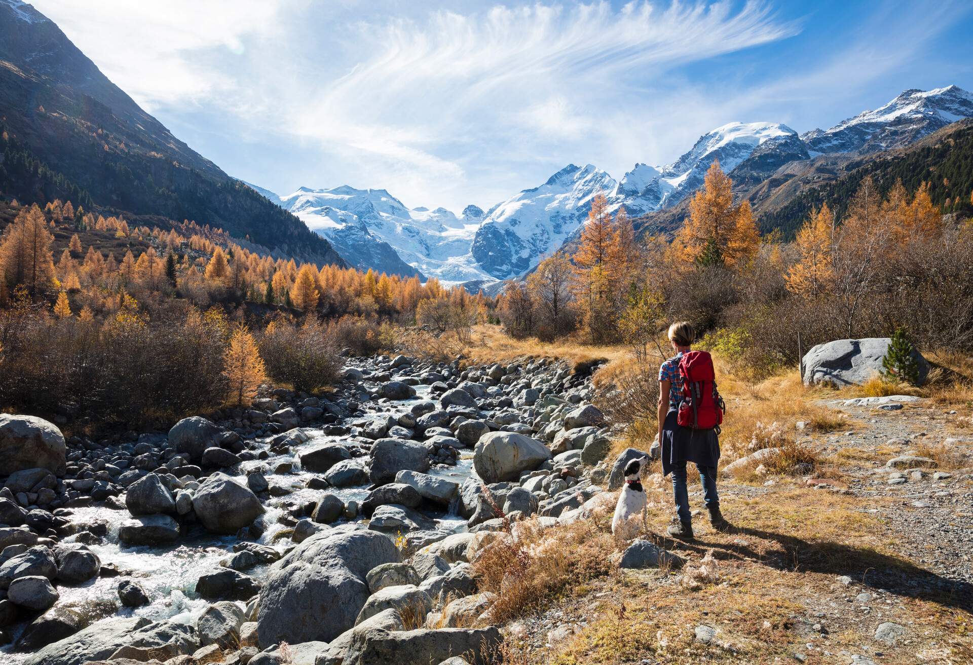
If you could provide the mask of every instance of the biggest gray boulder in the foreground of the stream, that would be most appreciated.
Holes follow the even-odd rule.
[[[332,641],[354,626],[368,601],[366,575],[398,561],[391,539],[376,532],[336,529],[308,537],[270,567],[258,601],[260,646]]]

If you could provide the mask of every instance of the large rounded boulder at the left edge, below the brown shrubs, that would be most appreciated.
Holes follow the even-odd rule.
[[[27,468],[67,471],[64,435],[54,423],[36,416],[0,414],[0,476]]]

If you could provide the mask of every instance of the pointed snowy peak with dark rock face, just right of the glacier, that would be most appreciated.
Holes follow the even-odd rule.
[[[470,257],[491,277],[520,277],[584,224],[596,194],[616,187],[600,168],[565,166],[540,187],[493,206],[476,232]]]

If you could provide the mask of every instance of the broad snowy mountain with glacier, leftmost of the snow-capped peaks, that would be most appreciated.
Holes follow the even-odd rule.
[[[443,207],[407,208],[383,189],[302,187],[281,205],[367,270],[461,282],[488,278],[465,255],[484,211],[468,205],[457,217]]]

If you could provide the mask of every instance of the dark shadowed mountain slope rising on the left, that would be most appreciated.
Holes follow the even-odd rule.
[[[195,219],[279,253],[341,262],[327,240],[177,139],[53,21],[0,0],[0,116],[34,159],[108,211]],[[0,182],[26,201],[38,192]]]

